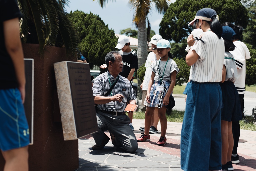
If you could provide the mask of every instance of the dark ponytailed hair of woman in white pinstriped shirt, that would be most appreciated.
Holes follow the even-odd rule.
[[[209,25],[210,25],[210,29],[213,33],[215,33],[218,38],[220,39],[221,38],[221,35],[222,35],[222,26],[219,22],[219,20],[216,18],[217,16],[212,16],[211,19],[212,19],[212,22],[210,21],[206,21]],[[195,29],[196,28],[196,24],[199,23],[199,19],[196,19],[194,24],[193,24],[193,28]]]

